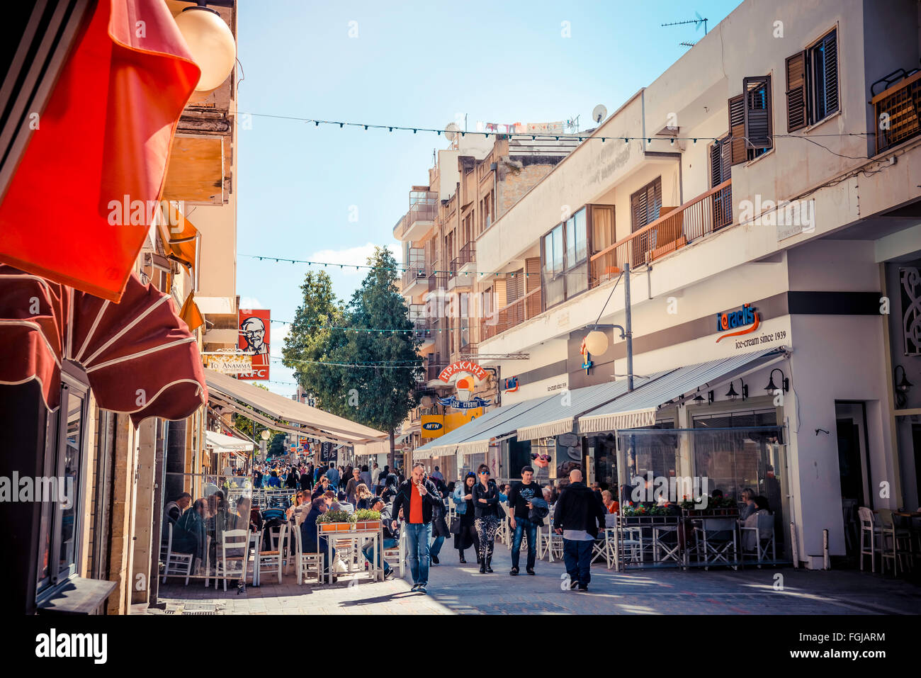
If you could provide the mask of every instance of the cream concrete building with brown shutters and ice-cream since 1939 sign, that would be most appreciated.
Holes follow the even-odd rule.
[[[495,454],[513,478],[550,450],[612,488],[646,471],[728,496],[752,485],[807,567],[822,567],[824,530],[830,555],[855,556],[857,508],[916,509],[918,57],[914,0],[742,3],[473,237],[472,291],[493,298],[479,362],[515,377],[503,407],[546,420],[468,425],[420,451],[458,468]],[[635,394],[688,376],[653,414],[612,386],[628,372],[611,327],[626,324],[627,271]],[[583,349],[596,323],[599,356]],[[624,403],[646,418],[631,425]],[[677,431],[644,448],[641,429]]]

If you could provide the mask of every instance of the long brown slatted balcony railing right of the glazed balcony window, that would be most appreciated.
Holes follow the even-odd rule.
[[[590,286],[617,277],[626,266],[650,263],[731,223],[732,185],[727,180],[592,254]]]

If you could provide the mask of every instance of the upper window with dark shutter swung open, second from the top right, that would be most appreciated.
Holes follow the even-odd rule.
[[[729,99],[731,165],[753,160],[774,146],[771,76],[742,78],[742,93]]]

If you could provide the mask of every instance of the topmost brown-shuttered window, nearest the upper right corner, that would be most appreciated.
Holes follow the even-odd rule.
[[[837,29],[787,57],[787,131],[815,124],[838,111]]]

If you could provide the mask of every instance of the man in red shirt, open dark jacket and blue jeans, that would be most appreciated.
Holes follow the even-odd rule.
[[[413,574],[413,590],[426,593],[428,586],[428,540],[432,536],[432,509],[441,502],[441,495],[432,481],[426,477],[426,467],[416,462],[413,472],[397,487],[393,497],[391,516],[403,512],[406,531],[406,550],[409,569]],[[397,529],[397,521],[391,521],[391,530]]]

